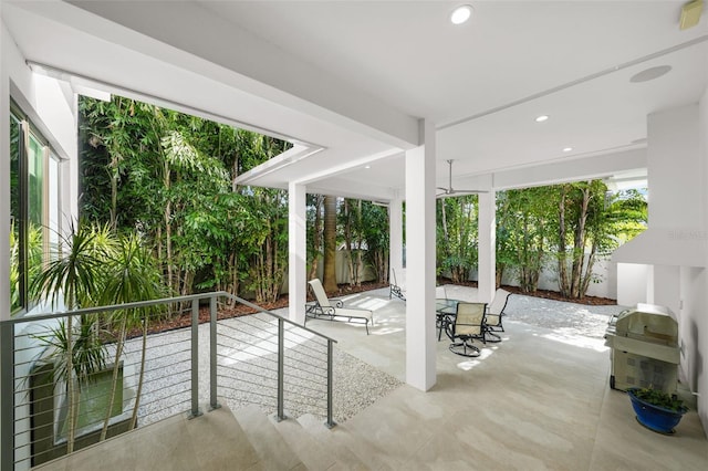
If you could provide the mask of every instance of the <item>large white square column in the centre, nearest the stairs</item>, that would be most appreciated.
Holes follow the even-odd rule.
[[[436,383],[435,126],[421,123],[425,144],[406,151],[406,383]]]

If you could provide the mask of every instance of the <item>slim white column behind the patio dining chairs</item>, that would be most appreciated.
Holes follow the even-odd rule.
[[[478,301],[490,303],[497,289],[497,205],[496,192],[479,193]]]

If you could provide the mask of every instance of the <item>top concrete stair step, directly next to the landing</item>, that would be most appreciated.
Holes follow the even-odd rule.
[[[233,411],[236,420],[253,446],[263,470],[306,470],[266,414],[257,406]]]

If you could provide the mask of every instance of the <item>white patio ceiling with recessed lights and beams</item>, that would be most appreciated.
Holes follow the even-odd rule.
[[[6,2],[28,59],[322,146],[258,181],[342,195],[400,191],[418,118],[438,128],[439,186],[450,158],[456,187],[491,185],[642,147],[648,113],[696,103],[707,83],[708,22],[679,31],[680,0],[469,1],[459,27],[449,1],[72,3],[83,10]],[[52,34],[27,29],[38,21]],[[90,44],[112,54],[88,61]],[[673,70],[629,82],[655,65]]]

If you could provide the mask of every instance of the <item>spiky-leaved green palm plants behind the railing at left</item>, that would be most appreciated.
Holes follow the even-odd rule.
[[[53,306],[62,294],[69,311],[148,301],[162,297],[165,292],[159,269],[144,240],[134,233],[118,236],[108,226],[92,226],[83,221],[76,227],[72,226],[69,234],[62,237],[58,253],[42,268],[32,286],[37,300],[51,300]],[[102,316],[84,315],[79,320],[67,316],[46,335],[38,336],[51,347],[48,359],[53,363],[54,383],[66,388],[66,420],[65,426],[60,426],[60,433],[66,435],[67,453],[73,451],[76,431],[83,422],[91,420],[93,423],[93,416],[98,414],[103,421],[100,440],[105,440],[111,418],[122,412],[123,347],[127,332],[139,327],[143,348],[138,391],[129,428],[135,427],[144,376],[148,317],[156,310],[116,310]],[[104,342],[115,346],[113,366],[106,365]],[[107,367],[108,380],[103,374]],[[88,397],[87,385],[97,386],[102,393],[93,391]],[[85,404],[82,406],[84,408],[103,407],[103,410],[84,410],[80,416],[80,404]],[[63,419],[61,423],[64,423]]]

